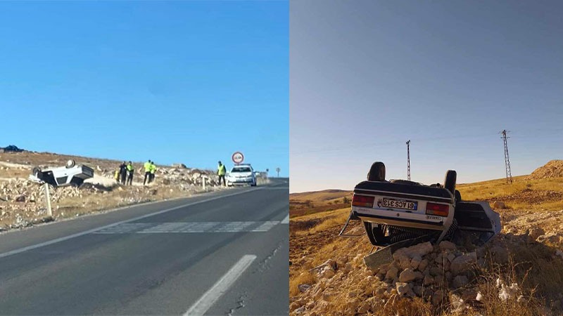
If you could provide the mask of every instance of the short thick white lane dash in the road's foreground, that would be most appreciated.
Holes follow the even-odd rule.
[[[236,279],[242,275],[244,270],[251,265],[255,258],[256,256],[254,255],[242,256],[242,258],[233,265],[231,270],[227,271],[217,283],[213,284],[213,287],[208,289],[194,305],[191,305],[191,308],[189,308],[184,316],[203,315],[207,312],[209,308],[229,290]]]

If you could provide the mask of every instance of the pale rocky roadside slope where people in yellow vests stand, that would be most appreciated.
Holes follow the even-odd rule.
[[[34,166],[63,166],[68,159],[94,169],[94,178],[80,187],[50,187],[53,218],[46,218],[44,187],[27,180]],[[0,153],[0,231],[25,228],[46,220],[81,216],[119,206],[175,197],[205,190],[227,190],[217,185],[215,171],[190,169],[183,164],[158,165],[155,181],[144,186],[141,163],[134,164],[133,185],[119,185],[113,173],[120,162],[39,152]],[[263,181],[263,179],[260,179]]]

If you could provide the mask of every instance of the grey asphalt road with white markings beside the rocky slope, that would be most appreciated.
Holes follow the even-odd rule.
[[[288,315],[289,180],[0,235],[1,315]]]

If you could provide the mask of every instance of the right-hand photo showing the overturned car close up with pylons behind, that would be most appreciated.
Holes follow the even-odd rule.
[[[289,11],[290,315],[563,315],[563,3]]]

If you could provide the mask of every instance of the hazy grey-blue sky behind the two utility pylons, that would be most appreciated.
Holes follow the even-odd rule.
[[[562,1],[292,1],[291,192],[563,159]]]

